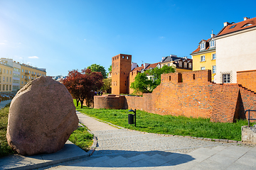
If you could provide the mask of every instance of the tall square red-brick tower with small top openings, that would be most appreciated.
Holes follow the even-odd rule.
[[[112,94],[129,93],[129,72],[132,68],[132,55],[119,54],[112,57]]]

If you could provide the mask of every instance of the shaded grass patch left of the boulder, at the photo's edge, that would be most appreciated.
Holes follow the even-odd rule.
[[[0,110],[0,157],[15,153],[15,151],[8,145],[6,140],[9,106],[10,105],[6,105]]]

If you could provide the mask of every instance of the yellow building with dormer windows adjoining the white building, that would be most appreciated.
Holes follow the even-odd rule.
[[[208,40],[201,40],[198,48],[191,53],[193,59],[193,71],[210,69],[212,73],[212,81],[216,74],[216,50],[215,35]]]

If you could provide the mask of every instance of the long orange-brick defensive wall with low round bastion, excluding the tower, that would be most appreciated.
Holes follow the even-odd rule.
[[[214,84],[210,81],[210,70],[162,74],[161,84],[151,94],[143,94],[143,97],[95,96],[94,106],[132,108],[159,115],[184,115],[231,123],[246,118],[245,110],[256,110],[256,70],[237,75],[238,84]],[[256,118],[256,114],[252,113],[252,117]]]

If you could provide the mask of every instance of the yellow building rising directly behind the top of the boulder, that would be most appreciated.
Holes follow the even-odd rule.
[[[41,76],[46,77],[46,69],[39,69],[26,64],[21,64],[21,88],[25,86],[25,84],[27,84],[29,81],[32,81],[33,79]]]

